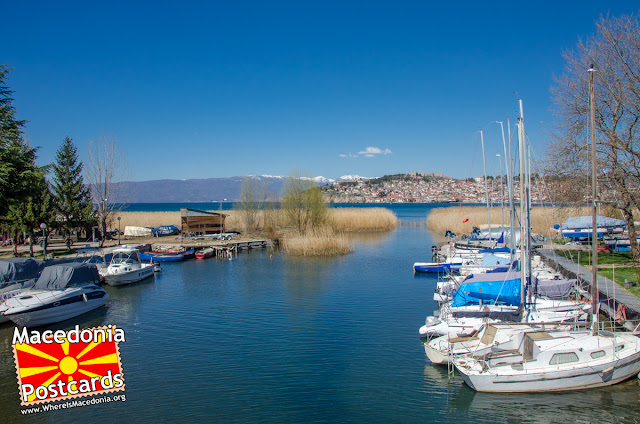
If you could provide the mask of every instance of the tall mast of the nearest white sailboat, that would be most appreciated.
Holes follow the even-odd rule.
[[[593,201],[592,225],[591,230],[591,251],[593,252],[592,272],[591,272],[591,300],[593,303],[593,319],[597,319],[598,314],[598,221],[597,221],[597,205],[596,205],[596,112],[595,112],[595,92],[593,88],[593,74],[596,72],[593,65],[589,68],[589,107],[591,109],[591,199]],[[594,325],[594,331],[597,331]]]

